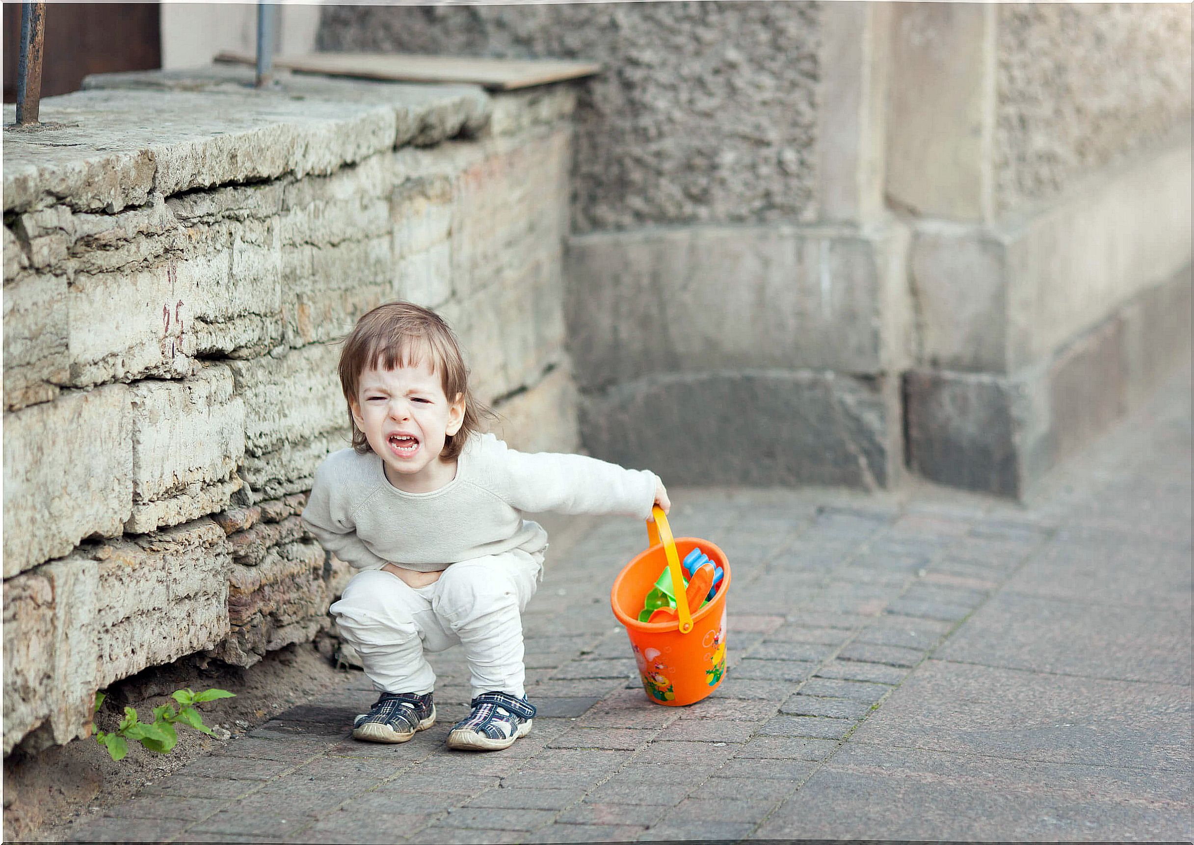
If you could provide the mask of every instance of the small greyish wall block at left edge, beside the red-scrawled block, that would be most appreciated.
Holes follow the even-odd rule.
[[[5,278],[6,411],[48,402],[59,395],[59,386],[68,383],[68,332],[66,278],[49,275]]]

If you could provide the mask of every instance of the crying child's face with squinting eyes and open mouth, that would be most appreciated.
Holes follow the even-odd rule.
[[[445,438],[464,420],[464,397],[448,401],[427,356],[418,366],[362,372],[352,419],[395,487],[429,492],[453,479],[454,470],[438,458]]]

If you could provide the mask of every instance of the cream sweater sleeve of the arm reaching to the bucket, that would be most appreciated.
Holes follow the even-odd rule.
[[[519,452],[497,438],[486,448],[496,492],[519,511],[651,516],[658,480],[654,473],[584,455]]]

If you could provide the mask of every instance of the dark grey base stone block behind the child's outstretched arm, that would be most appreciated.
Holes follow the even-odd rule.
[[[590,454],[667,485],[891,487],[903,464],[891,376],[743,370],[648,376],[581,396]]]

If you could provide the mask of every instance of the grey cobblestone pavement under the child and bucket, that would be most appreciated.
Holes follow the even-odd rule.
[[[647,701],[609,610],[644,526],[573,520],[527,612],[541,715],[512,748],[444,748],[457,648],[406,745],[349,739],[375,697],[350,672],[75,838],[1188,840],[1190,471],[1184,372],[1027,507],[675,491],[677,533],[734,567],[730,668],[688,708]]]

